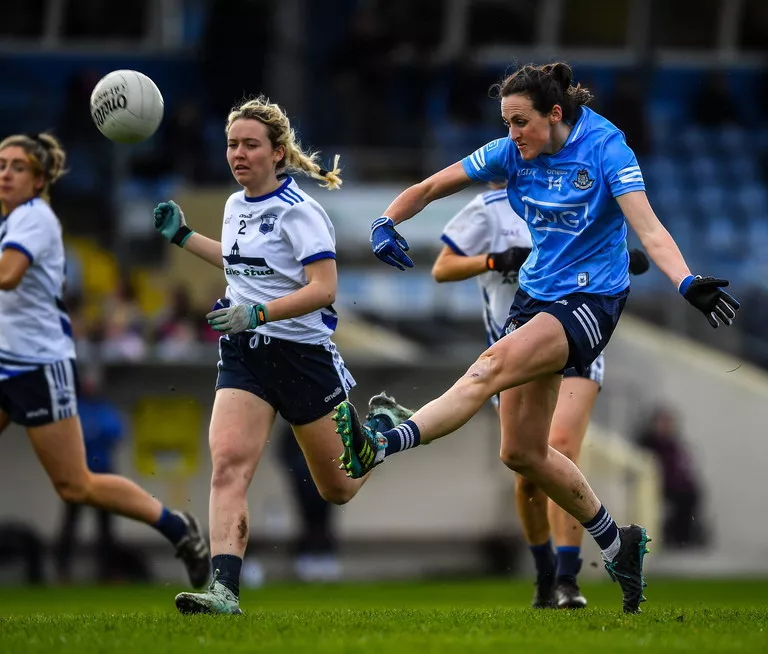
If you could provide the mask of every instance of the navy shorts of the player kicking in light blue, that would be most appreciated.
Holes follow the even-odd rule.
[[[554,302],[546,302],[532,298],[518,288],[504,333],[509,334],[521,327],[538,313],[553,315],[563,325],[568,338],[568,361],[564,371],[574,368],[577,374],[584,375],[608,345],[628,295],[629,289],[618,295],[573,293]]]

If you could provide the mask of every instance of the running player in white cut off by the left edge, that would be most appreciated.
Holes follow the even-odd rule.
[[[135,483],[88,470],[77,414],[72,327],[62,302],[64,244],[48,204],[66,155],[50,134],[0,142],[0,431],[15,422],[65,502],[154,526],[177,550],[195,588],[210,574],[197,520],[169,511]]]

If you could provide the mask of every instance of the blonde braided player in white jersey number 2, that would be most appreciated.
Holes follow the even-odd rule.
[[[338,156],[323,170],[302,151],[288,117],[264,97],[229,114],[227,161],[242,191],[224,207],[221,241],[193,232],[173,202],[155,209],[169,241],[224,270],[226,297],[207,319],[224,335],[210,425],[214,577],[207,593],[181,593],[183,613],[241,613],[239,580],[248,542],[251,483],[277,412],[293,427],[318,491],[348,502],[364,479],[336,462],[333,407],[355,382],[331,341],[336,328],[336,244],[323,208],[290,171],[328,189],[341,185]],[[370,415],[397,425],[410,415],[391,398],[371,399]],[[375,416],[375,418],[374,418]]]

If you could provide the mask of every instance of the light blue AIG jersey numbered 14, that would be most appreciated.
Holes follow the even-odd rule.
[[[508,180],[507,197],[531,232],[520,287],[538,300],[615,295],[629,286],[627,227],[616,199],[645,184],[624,134],[582,107],[563,148],[525,161],[509,138],[462,160],[471,179]]]

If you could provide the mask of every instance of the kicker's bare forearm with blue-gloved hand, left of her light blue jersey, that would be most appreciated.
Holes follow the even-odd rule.
[[[384,263],[400,270],[413,268],[413,261],[406,254],[408,242],[397,232],[395,225],[412,218],[430,202],[458,193],[472,183],[461,162],[457,162],[405,189],[387,207],[384,215],[373,221],[373,253]]]

